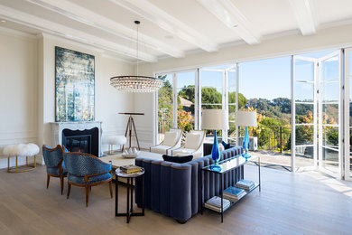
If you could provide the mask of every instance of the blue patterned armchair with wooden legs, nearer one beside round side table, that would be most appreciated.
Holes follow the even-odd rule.
[[[110,196],[113,198],[112,165],[102,162],[95,155],[82,153],[63,153],[63,161],[68,170],[68,191],[71,184],[86,188],[86,206],[88,206],[88,189],[101,183],[109,183]]]

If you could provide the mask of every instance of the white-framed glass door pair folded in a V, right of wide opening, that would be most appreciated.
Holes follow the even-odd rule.
[[[292,165],[297,171],[319,169],[341,178],[342,58],[293,56]]]

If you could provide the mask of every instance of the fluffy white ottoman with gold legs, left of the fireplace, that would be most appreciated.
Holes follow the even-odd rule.
[[[4,155],[7,155],[7,172],[9,173],[21,173],[32,171],[36,167],[36,155],[39,154],[39,146],[35,144],[19,144],[19,145],[10,145],[5,146]],[[25,164],[18,165],[18,157],[25,156]],[[28,157],[33,156],[33,164],[28,163]],[[10,158],[16,158],[15,166],[10,166]]]

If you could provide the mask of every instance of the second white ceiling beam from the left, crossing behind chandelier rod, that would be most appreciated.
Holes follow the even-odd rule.
[[[115,21],[101,14],[96,14],[95,12],[92,12],[87,8],[73,4],[67,0],[26,1],[44,7],[52,12],[62,14],[79,23],[87,24],[98,30],[103,30],[107,33],[114,34],[118,37],[124,38],[125,40],[137,42],[135,30],[125,27],[125,25],[118,24]],[[131,25],[133,25],[133,22],[131,22]],[[184,52],[175,48],[174,46],[156,40],[153,37],[145,35],[144,33],[139,33],[139,35],[140,38],[143,39],[142,41],[139,41],[139,43],[148,48],[151,48],[157,52],[163,52],[175,58],[184,57]]]

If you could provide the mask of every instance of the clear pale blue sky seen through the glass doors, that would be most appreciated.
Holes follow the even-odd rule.
[[[329,52],[312,52],[300,54],[299,56],[309,58],[321,58]],[[224,70],[233,64],[223,64],[212,66],[207,69]],[[307,67],[307,66],[306,66]],[[297,67],[298,68],[298,67]],[[309,73],[309,67],[304,69],[301,73]],[[245,95],[246,99],[262,98],[262,99],[275,99],[275,98],[288,98],[291,99],[291,56],[266,59],[260,61],[246,61],[238,63],[239,70],[239,92]],[[299,71],[297,72],[299,74]],[[195,84],[195,71],[179,72],[178,76],[178,89],[184,86]],[[300,75],[303,77],[303,75]],[[306,77],[310,77],[306,74]],[[228,88],[230,91],[236,90],[236,72],[230,72],[228,81]],[[171,79],[171,76],[168,76]],[[201,71],[200,80],[202,87],[214,87],[221,92],[222,89],[222,72],[221,71]],[[298,88],[299,86],[297,86]],[[311,89],[309,85],[302,84],[301,86],[301,99],[309,99]]]

